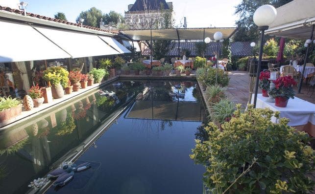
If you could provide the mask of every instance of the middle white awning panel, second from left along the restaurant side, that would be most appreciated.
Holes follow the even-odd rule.
[[[42,26],[33,27],[69,53],[72,58],[120,54],[97,35]]]

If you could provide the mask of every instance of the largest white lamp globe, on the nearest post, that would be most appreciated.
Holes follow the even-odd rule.
[[[269,26],[277,16],[277,10],[272,5],[262,5],[254,13],[253,20],[257,26]]]

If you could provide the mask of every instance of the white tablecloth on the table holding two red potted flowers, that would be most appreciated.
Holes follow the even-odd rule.
[[[280,111],[280,117],[286,117],[290,119],[289,126],[306,125],[308,122],[315,125],[315,105],[294,97],[289,99],[288,106],[286,108],[280,108],[274,106],[274,103],[266,102],[268,98],[263,97],[262,94],[257,95],[256,108],[270,108],[273,111]],[[254,94],[252,96],[252,104],[254,102]],[[272,122],[276,122],[276,118],[272,118]]]

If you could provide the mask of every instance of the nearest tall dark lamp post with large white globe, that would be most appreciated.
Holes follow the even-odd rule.
[[[276,19],[276,16],[277,16],[277,10],[272,5],[262,5],[258,7],[253,16],[253,20],[255,24],[258,26],[258,29],[261,31],[257,75],[256,75],[256,83],[255,83],[254,108],[256,108],[256,102],[257,102],[259,74],[260,74],[260,69],[262,65],[262,55],[263,55],[263,48],[264,48],[264,42],[265,42],[264,41],[265,30],[269,28],[269,25]]]

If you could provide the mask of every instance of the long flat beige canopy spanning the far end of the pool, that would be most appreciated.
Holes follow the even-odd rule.
[[[216,32],[223,34],[222,39],[230,38],[236,28],[171,28],[171,29],[146,29],[146,30],[121,30],[125,36],[135,41],[151,40],[203,40],[206,37],[213,39]]]

